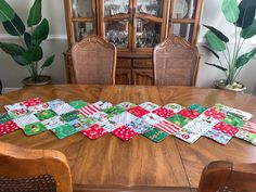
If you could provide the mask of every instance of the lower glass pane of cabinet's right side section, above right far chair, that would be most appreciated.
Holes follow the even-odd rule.
[[[172,24],[172,34],[183,37],[189,42],[192,42],[193,29],[193,24]]]

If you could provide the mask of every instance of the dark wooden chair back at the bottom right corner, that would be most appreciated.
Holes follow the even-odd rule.
[[[213,162],[201,176],[197,192],[255,192],[256,164]]]

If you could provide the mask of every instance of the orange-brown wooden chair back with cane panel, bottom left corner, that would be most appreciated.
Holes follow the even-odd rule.
[[[72,192],[65,155],[0,142],[0,191]]]

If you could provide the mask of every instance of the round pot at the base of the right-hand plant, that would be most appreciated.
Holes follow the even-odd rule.
[[[226,80],[215,80],[214,85],[217,89],[223,89],[229,91],[235,91],[235,92],[244,92],[246,90],[246,87],[239,81],[234,81],[232,85],[227,85]]]

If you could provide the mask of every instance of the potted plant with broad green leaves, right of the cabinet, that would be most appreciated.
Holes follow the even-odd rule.
[[[235,34],[234,47],[232,50],[228,47],[229,38],[220,30],[213,26],[204,25],[209,30],[206,34],[207,46],[218,63],[206,63],[207,65],[217,67],[226,75],[226,79],[216,80],[215,86],[220,89],[233,91],[244,91],[246,87],[236,81],[236,77],[243,67],[256,54],[256,48],[249,52],[242,53],[244,42],[256,35],[255,0],[242,0],[238,4],[236,0],[223,0],[222,13],[227,20],[233,24],[232,30]],[[222,53],[225,62],[220,60],[219,53]]]

